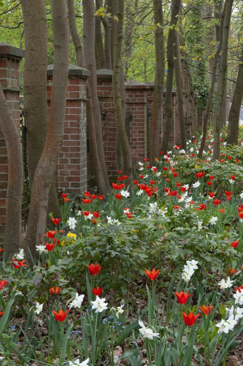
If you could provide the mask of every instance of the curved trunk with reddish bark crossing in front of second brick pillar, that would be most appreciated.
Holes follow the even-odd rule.
[[[26,244],[32,255],[44,241],[48,194],[63,142],[67,97],[69,30],[66,1],[51,0],[54,43],[54,68],[49,126],[45,146],[32,183]],[[44,37],[44,35],[42,35]]]

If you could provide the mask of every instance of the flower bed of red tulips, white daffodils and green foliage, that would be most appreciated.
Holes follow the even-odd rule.
[[[241,139],[240,132],[240,139]],[[38,258],[0,269],[2,365],[225,365],[243,330],[243,149],[200,138],[143,159],[134,189],[61,193]]]

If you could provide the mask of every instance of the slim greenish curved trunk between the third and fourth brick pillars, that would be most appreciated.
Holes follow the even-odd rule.
[[[116,40],[114,49],[114,65],[113,65],[113,98],[115,104],[115,117],[116,125],[119,133],[120,143],[122,146],[123,154],[123,168],[124,174],[128,176],[127,184],[132,187],[132,156],[130,145],[127,138],[127,132],[125,129],[125,120],[123,115],[123,105],[121,96],[121,66],[122,66],[122,41],[123,41],[123,19],[124,19],[124,0],[120,0],[117,3],[117,18],[116,22]]]

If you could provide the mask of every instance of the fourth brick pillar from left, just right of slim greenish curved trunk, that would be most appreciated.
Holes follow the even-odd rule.
[[[132,115],[130,146],[136,165],[147,156],[147,90],[149,86],[135,80],[125,83],[126,106]]]

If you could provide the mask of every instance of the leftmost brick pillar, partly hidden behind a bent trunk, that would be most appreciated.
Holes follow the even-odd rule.
[[[0,42],[0,83],[15,124],[19,130],[19,62],[22,57],[25,57],[25,51],[23,49]],[[0,129],[0,235],[4,234],[5,231],[7,185],[7,149],[3,132]]]

